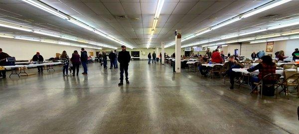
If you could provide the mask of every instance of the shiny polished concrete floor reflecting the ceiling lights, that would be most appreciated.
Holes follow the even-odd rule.
[[[118,69],[88,66],[75,77],[55,67],[0,78],[0,134],[299,134],[296,96],[259,99],[147,61],[131,62],[131,83],[119,87]]]

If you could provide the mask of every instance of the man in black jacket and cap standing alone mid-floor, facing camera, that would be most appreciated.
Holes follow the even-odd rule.
[[[128,51],[126,51],[126,46],[122,46],[122,51],[119,52],[118,55],[118,62],[120,63],[120,70],[121,70],[121,82],[119,83],[120,85],[123,85],[123,81],[124,81],[124,71],[126,74],[126,82],[127,84],[129,84],[129,77],[128,77],[128,67],[129,67],[129,63],[131,61],[131,56],[130,53]]]

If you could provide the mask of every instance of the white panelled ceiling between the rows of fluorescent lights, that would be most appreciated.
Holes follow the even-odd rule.
[[[138,48],[146,47],[157,5],[157,0],[40,1]],[[176,29],[182,30],[184,38],[270,1],[272,0],[165,0],[150,47],[160,46],[161,41],[165,42],[165,44],[173,42],[173,33]],[[284,19],[278,18],[297,16],[299,14],[298,7],[299,0],[293,0],[205,33],[197,38],[187,40],[182,45],[229,33],[241,32],[246,29],[267,26],[272,22],[284,21]],[[276,16],[270,18],[264,17],[271,14],[275,14]],[[128,19],[117,20],[115,18],[116,15],[126,15]],[[120,47],[120,44],[53,16],[21,0],[0,0],[0,20],[29,25]],[[250,36],[296,28],[267,31]],[[3,27],[0,27],[0,32],[55,39]]]

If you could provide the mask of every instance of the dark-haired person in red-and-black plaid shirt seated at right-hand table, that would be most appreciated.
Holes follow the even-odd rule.
[[[250,79],[251,87],[255,88],[255,82],[260,82],[264,76],[267,74],[275,73],[276,72],[276,64],[272,62],[272,58],[270,56],[263,56],[261,58],[261,63],[259,63],[257,66],[248,68],[247,71],[253,72],[257,69],[259,69],[258,76],[252,76]]]

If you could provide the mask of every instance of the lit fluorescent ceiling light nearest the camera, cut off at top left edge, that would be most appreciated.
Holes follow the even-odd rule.
[[[68,19],[68,17],[66,15],[64,15],[63,13],[59,12],[58,10],[51,9],[47,5],[44,5],[40,2],[38,2],[37,0],[22,0],[22,1],[24,1],[26,3],[29,3],[29,4],[35,6],[39,9],[42,9],[42,10],[46,11],[46,12],[49,12],[49,13],[55,15],[55,16],[58,16],[62,19]]]

